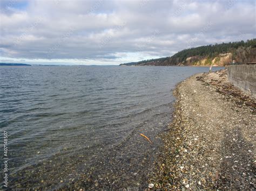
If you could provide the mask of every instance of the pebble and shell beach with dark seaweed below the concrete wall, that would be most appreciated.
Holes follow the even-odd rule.
[[[153,189],[255,189],[255,99],[226,70],[178,84],[173,122],[149,177]]]

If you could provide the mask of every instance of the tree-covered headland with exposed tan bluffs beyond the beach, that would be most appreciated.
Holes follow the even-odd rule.
[[[256,62],[256,39],[188,48],[172,56],[120,66],[225,66]]]

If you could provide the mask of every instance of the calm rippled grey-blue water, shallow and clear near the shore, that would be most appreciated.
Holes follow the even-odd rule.
[[[158,135],[171,121],[172,89],[207,71],[0,67],[0,128],[9,133],[9,187],[146,187],[161,145]]]

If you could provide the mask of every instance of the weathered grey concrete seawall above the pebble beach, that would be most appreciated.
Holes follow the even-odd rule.
[[[256,98],[256,65],[228,66],[227,77],[235,87]]]

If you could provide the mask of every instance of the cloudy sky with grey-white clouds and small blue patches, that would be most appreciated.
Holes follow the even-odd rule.
[[[256,37],[254,0],[0,0],[0,62],[119,65]]]

